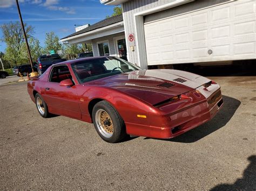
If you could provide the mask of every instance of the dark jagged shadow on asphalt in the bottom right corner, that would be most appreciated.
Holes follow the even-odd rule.
[[[210,189],[215,190],[255,190],[256,188],[256,155],[247,158],[250,164],[244,171],[241,179],[237,179],[232,185],[223,183]]]

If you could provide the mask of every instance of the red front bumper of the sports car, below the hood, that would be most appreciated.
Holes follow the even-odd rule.
[[[216,94],[215,94],[216,95]],[[214,95],[213,95],[214,96]],[[214,103],[210,99],[200,103],[192,108],[181,111],[178,114],[170,116],[169,124],[163,126],[147,126],[140,124],[126,123],[126,132],[129,135],[152,137],[152,138],[173,138],[177,137],[197,126],[210,121],[217,112],[223,107],[223,98],[221,94]],[[191,114],[197,108],[205,108],[196,116],[187,116],[183,121],[176,123],[177,116],[185,116]]]

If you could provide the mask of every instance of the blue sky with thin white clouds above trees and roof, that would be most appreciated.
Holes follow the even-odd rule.
[[[35,28],[34,37],[42,46],[47,32],[63,38],[75,32],[75,24],[94,24],[113,12],[113,6],[100,4],[99,0],[19,0],[19,6],[23,22]],[[16,1],[0,0],[0,25],[15,21],[19,22]],[[5,47],[0,41],[0,52]]]

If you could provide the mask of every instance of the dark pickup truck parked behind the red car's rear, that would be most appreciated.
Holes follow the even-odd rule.
[[[63,62],[66,59],[60,58],[58,54],[50,54],[50,55],[41,55],[37,59],[37,68],[39,74],[43,74],[47,68],[49,68],[54,63]]]

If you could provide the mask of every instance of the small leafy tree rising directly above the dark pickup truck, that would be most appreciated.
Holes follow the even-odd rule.
[[[62,49],[62,45],[59,43],[59,38],[54,32],[46,33],[44,44],[45,54],[49,54],[49,51],[51,49],[53,49],[55,53],[57,53],[58,50]]]

